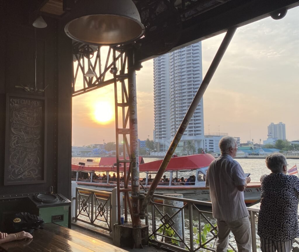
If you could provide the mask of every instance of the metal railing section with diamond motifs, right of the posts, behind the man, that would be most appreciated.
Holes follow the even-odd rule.
[[[166,199],[181,201],[183,204],[179,207],[160,203],[161,200]],[[179,252],[215,251],[216,219],[212,216],[210,202],[154,194],[150,204],[151,210],[145,222],[150,224],[149,238],[153,245]],[[168,213],[170,208],[171,215]],[[251,222],[252,251],[257,252],[256,223],[259,209],[248,208],[248,212]],[[181,221],[176,223],[174,219],[178,215],[181,215]],[[237,252],[232,233],[229,251]]]

